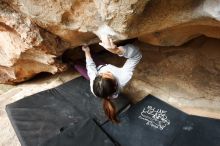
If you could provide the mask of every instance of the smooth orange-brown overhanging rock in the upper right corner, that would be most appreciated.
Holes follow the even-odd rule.
[[[218,0],[152,0],[136,21],[138,37],[161,46],[179,46],[201,35],[220,38],[219,12]]]

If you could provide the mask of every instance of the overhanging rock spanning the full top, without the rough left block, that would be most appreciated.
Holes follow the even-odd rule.
[[[6,1],[6,0],[5,0]],[[161,46],[179,46],[200,35],[220,38],[218,0],[11,0],[41,27],[78,46],[138,37]]]

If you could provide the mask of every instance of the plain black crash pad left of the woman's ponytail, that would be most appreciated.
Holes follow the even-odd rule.
[[[118,111],[129,104],[122,94],[119,97],[114,99]],[[88,118],[100,124],[107,120],[101,99],[93,96],[82,77],[9,104],[6,111],[22,146],[41,145],[61,128]]]

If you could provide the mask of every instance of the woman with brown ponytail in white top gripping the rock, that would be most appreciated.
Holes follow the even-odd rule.
[[[85,52],[86,69],[90,79],[91,92],[103,99],[105,114],[112,122],[117,123],[119,121],[116,118],[116,110],[111,99],[117,98],[120,90],[131,79],[134,68],[142,55],[139,49],[132,44],[117,47],[112,39],[107,36],[101,37],[101,41],[99,44],[106,50],[127,58],[122,67],[116,67],[111,64],[96,67],[90,54],[90,48],[88,46],[82,47],[82,50]]]

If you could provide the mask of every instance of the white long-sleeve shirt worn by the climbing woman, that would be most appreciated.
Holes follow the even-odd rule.
[[[124,49],[124,54],[120,56],[124,56],[125,58],[128,58],[122,67],[116,67],[114,65],[107,64],[98,71],[93,59],[92,58],[86,59],[86,68],[87,68],[88,76],[90,78],[90,88],[93,94],[94,94],[93,81],[95,77],[100,73],[109,71],[113,74],[113,76],[117,80],[118,90],[114,95],[112,95],[112,98],[116,98],[119,94],[120,89],[122,89],[131,79],[134,68],[140,61],[142,55],[139,49],[132,44],[127,44],[121,47]]]

